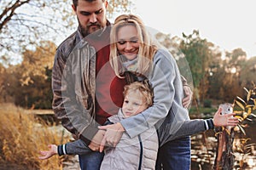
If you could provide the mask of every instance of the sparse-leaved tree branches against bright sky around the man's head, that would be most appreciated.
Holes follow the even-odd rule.
[[[42,41],[59,43],[67,37],[78,26],[71,4],[72,0],[1,0],[0,62],[35,50]],[[131,5],[130,0],[110,0],[108,15],[129,12]]]

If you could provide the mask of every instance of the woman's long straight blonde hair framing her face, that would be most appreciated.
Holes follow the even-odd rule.
[[[113,27],[110,32],[110,65],[117,77],[122,77],[125,68],[122,65],[121,56],[118,52],[118,31],[123,26],[135,26],[137,29],[137,37],[139,42],[139,50],[137,54],[137,73],[147,76],[152,66],[154,54],[158,49],[157,43],[154,43],[152,37],[148,35],[146,26],[143,21],[133,14],[122,14],[114,20]]]

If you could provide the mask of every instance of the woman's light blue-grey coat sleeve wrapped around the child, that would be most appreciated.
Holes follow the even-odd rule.
[[[137,116],[131,116],[121,121],[126,133],[131,138],[143,133],[149,127],[156,125],[157,122],[168,115],[173,105],[175,94],[179,95],[177,91],[181,94],[177,104],[180,105],[178,111],[183,110],[184,113],[179,112],[185,117],[183,120],[189,119],[188,113],[181,105],[181,99],[183,97],[181,77],[179,71],[177,71],[176,61],[169,52],[159,50],[154,55],[153,69],[148,80],[154,89],[154,105]],[[177,83],[178,88],[175,87]]]

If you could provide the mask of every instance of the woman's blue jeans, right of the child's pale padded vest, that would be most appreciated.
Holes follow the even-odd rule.
[[[158,150],[156,170],[189,170],[190,137],[167,142]]]

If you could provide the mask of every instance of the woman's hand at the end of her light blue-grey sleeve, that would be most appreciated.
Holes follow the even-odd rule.
[[[105,145],[115,147],[125,132],[125,128],[119,122],[113,125],[101,126],[99,128],[102,130],[107,130],[104,138],[102,139],[100,152],[104,150]]]

